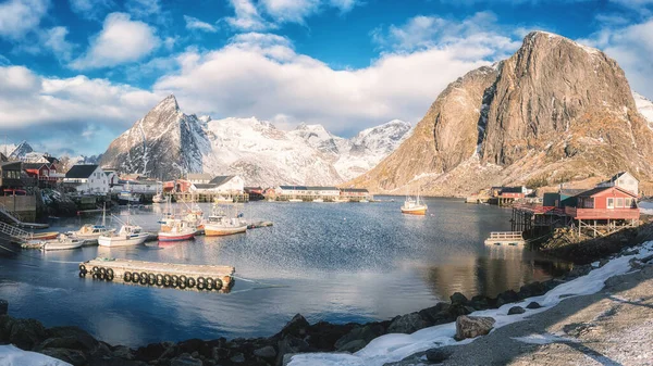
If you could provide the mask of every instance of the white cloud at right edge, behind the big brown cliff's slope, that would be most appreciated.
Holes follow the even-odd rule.
[[[653,99],[653,18],[625,27],[605,27],[582,43],[602,49],[626,72],[630,87]]]

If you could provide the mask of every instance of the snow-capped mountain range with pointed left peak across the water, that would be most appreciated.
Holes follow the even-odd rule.
[[[268,121],[186,115],[174,96],[116,138],[101,164],[164,179],[185,173],[238,174],[246,185],[335,185],[373,167],[409,135],[392,121],[353,139],[321,125],[278,129]]]

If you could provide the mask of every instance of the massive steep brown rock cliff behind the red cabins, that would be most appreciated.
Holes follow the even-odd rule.
[[[648,180],[652,144],[614,60],[537,31],[496,67],[452,83],[414,136],[350,184],[461,195],[491,185],[556,184],[623,169]]]

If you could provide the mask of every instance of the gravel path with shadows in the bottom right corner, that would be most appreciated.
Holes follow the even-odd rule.
[[[653,265],[448,350],[443,365],[653,365]]]

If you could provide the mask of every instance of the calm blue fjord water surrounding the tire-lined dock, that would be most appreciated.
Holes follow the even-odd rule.
[[[311,323],[390,319],[456,291],[496,295],[568,268],[519,248],[486,248],[490,231],[509,229],[509,210],[428,199],[429,215],[407,216],[399,213],[401,198],[381,199],[386,201],[250,202],[242,206],[245,217],[272,220],[273,227],[161,245],[39,252],[2,243],[0,299],[9,301],[12,316],[76,325],[106,342],[138,346],[268,337],[297,313]],[[155,230],[161,209],[133,209],[130,217]],[[114,213],[126,218],[126,209]],[[97,219],[58,219],[52,228],[72,230]],[[236,281],[223,294],[78,278],[77,264],[96,256],[231,265]]]

